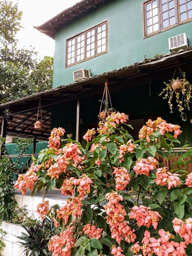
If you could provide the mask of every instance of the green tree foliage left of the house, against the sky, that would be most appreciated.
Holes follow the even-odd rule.
[[[0,1],[0,102],[18,100],[52,87],[52,57],[39,61],[34,48],[19,49],[22,28],[18,4]]]

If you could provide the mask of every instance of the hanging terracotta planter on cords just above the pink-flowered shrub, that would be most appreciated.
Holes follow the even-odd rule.
[[[116,110],[112,107],[107,81],[105,82],[103,98],[102,100],[99,100],[99,102],[101,102],[101,106],[100,106],[98,118],[99,120],[102,120],[103,122],[105,122],[106,118],[110,116],[112,112],[116,112]],[[109,107],[109,104],[110,104],[110,107]],[[102,107],[104,107],[103,110],[102,110]]]

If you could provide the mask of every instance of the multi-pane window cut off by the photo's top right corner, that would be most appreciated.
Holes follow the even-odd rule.
[[[192,19],[192,0],[150,0],[143,10],[146,37]]]

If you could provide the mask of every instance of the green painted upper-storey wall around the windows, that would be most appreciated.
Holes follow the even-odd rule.
[[[154,54],[170,53],[168,38],[186,33],[192,45],[192,22],[143,39],[142,0],[112,0],[61,28],[55,37],[53,87],[73,82],[72,72],[90,69],[97,75],[134,64]],[[108,19],[108,53],[65,68],[66,38]]]

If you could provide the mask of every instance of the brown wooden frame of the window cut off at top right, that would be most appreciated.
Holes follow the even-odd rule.
[[[174,27],[177,27],[177,26],[180,26],[180,25],[182,25],[182,24],[186,24],[186,23],[192,21],[192,18],[188,18],[188,19],[186,19],[186,20],[184,20],[184,21],[181,21],[181,20],[180,20],[180,12],[179,12],[179,6],[180,6],[180,5],[179,5],[179,0],[174,0],[174,1],[175,1],[175,12],[176,12],[176,15],[175,15],[176,24],[161,29],[161,26],[162,26],[162,12],[159,10],[158,17],[159,17],[159,23],[160,23],[159,28],[160,28],[160,29],[157,30],[157,31],[155,31],[155,32],[153,32],[153,33],[150,33],[150,34],[147,35],[147,34],[146,34],[146,28],[147,28],[147,26],[146,26],[146,4],[149,3],[149,2],[151,2],[151,1],[152,1],[152,0],[147,0],[147,1],[145,1],[145,2],[142,3],[143,39],[146,39],[146,38],[148,38],[148,37],[152,37],[153,35],[157,35],[157,34],[159,34],[159,33],[162,33],[162,32],[164,32],[164,31],[166,31],[166,30],[172,29],[172,28],[174,28]],[[160,1],[160,4],[159,4],[159,2],[158,2],[158,9],[160,9],[160,6],[162,6],[161,0],[159,0],[159,1]],[[188,11],[188,10],[187,10],[187,11]]]

